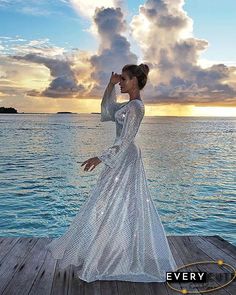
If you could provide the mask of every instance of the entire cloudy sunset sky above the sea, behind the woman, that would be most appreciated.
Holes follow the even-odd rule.
[[[111,72],[146,63],[146,116],[235,117],[235,11],[235,0],[0,0],[0,106],[100,112]]]

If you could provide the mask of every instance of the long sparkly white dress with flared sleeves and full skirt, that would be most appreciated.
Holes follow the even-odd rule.
[[[116,123],[115,141],[99,156],[105,165],[91,195],[65,234],[46,245],[59,268],[76,266],[86,282],[165,282],[177,269],[134,142],[144,112],[142,100],[117,103],[115,87],[106,88],[101,121]]]

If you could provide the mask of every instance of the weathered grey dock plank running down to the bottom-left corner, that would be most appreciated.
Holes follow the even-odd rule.
[[[30,249],[28,255],[20,263],[17,271],[11,279],[10,284],[4,289],[3,295],[28,294],[31,286],[45,260],[46,251],[44,251],[45,240],[47,238],[37,239],[37,243]]]

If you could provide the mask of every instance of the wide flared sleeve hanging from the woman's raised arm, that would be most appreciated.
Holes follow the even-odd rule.
[[[115,85],[109,83],[103,94],[101,102],[101,122],[115,122],[115,112],[119,108],[120,103],[117,102]]]

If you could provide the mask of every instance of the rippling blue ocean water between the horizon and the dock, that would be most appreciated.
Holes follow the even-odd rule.
[[[62,235],[115,138],[98,114],[0,115],[0,236]],[[167,235],[219,235],[236,245],[236,118],[145,117],[141,147]]]

